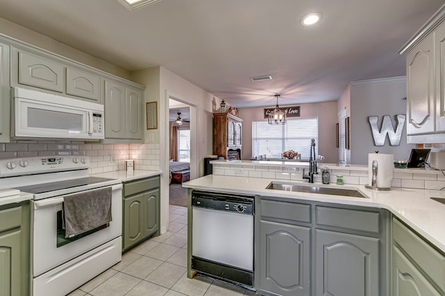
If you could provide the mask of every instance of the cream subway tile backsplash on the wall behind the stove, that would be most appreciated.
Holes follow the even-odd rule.
[[[134,159],[136,170],[159,171],[159,144],[104,144],[75,141],[14,141],[0,143],[0,159],[51,155],[86,155],[90,173],[124,170]]]

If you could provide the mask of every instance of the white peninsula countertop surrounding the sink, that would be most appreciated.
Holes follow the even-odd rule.
[[[356,205],[362,207],[375,207],[387,209],[391,213],[421,234],[439,250],[445,252],[445,204],[440,204],[431,197],[445,198],[444,191],[430,191],[423,189],[393,188],[390,191],[373,191],[365,189],[363,185],[330,184],[327,186],[339,186],[343,189],[355,188],[367,198],[345,198],[335,195],[323,195],[319,193],[302,193],[266,189],[270,182],[282,182],[280,180],[260,179],[250,177],[232,177],[222,175],[207,175],[195,180],[184,182],[182,186],[220,192],[236,192],[247,195],[264,195],[277,198],[291,198],[295,200],[307,200],[318,202],[330,202],[337,204]],[[291,184],[307,182],[286,181]],[[317,186],[326,186],[316,183]]]

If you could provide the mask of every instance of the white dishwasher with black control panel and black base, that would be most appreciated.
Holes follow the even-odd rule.
[[[254,197],[192,191],[192,270],[253,286]]]

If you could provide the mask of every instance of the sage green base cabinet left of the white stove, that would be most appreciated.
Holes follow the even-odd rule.
[[[29,202],[0,207],[0,295],[29,295]]]

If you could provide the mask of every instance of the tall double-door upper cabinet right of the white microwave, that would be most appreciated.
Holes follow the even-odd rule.
[[[143,92],[105,81],[105,138],[143,141]]]

